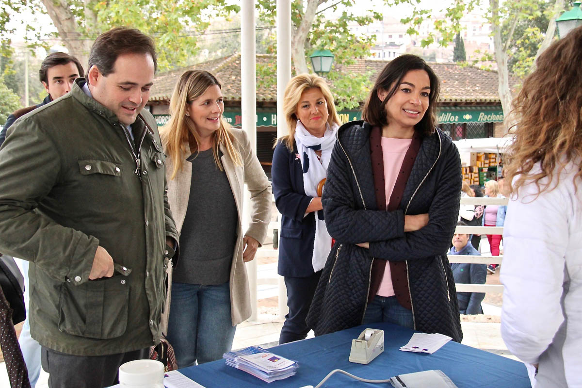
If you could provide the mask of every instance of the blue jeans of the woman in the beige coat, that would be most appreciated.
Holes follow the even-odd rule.
[[[172,283],[168,341],[179,368],[216,361],[230,351],[236,326],[230,318],[229,283]]]

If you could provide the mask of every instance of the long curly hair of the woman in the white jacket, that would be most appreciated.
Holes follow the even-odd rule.
[[[558,172],[582,156],[580,42],[582,27],[548,47],[513,101],[513,114],[519,121],[513,127],[515,139],[504,168],[512,193],[531,182],[537,185],[538,194],[552,190],[559,183]],[[532,172],[536,163],[540,163],[540,171]],[[582,170],[574,179],[580,177]]]

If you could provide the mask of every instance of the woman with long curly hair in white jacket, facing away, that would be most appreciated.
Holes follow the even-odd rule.
[[[514,101],[505,166],[501,334],[532,386],[582,386],[582,27],[553,43]]]

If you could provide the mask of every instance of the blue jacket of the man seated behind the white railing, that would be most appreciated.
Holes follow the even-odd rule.
[[[467,245],[458,252],[455,247],[450,248],[449,255],[480,256],[481,254],[473,248],[471,241],[468,241]],[[485,280],[487,280],[487,265],[485,264],[451,263],[450,269],[453,270],[455,283],[485,284]],[[481,302],[483,298],[485,298],[485,293],[457,292],[459,312],[461,314],[482,314]]]

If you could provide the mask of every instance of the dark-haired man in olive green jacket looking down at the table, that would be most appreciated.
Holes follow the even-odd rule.
[[[178,233],[165,155],[144,110],[154,42],[117,28],[87,78],[10,127],[0,149],[0,251],[30,261],[31,334],[51,387],[105,387],[159,342]]]

